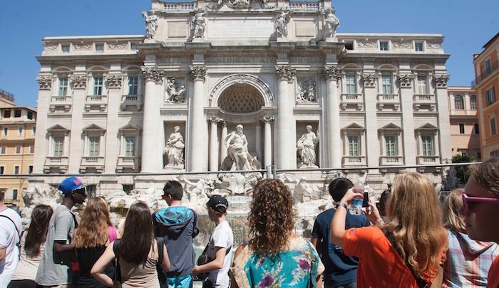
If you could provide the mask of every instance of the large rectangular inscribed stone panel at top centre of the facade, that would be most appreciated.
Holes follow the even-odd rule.
[[[271,19],[210,19],[209,38],[269,37],[274,33]]]

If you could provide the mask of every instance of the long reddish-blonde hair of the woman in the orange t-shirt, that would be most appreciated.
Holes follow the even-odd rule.
[[[447,233],[441,225],[441,211],[433,182],[421,173],[396,175],[391,199],[386,206],[386,230],[395,236],[416,277],[435,277]]]

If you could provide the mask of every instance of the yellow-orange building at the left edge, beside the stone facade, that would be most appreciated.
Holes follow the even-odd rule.
[[[0,190],[5,203],[22,205],[26,175],[33,172],[36,110],[16,106],[14,95],[0,90]]]

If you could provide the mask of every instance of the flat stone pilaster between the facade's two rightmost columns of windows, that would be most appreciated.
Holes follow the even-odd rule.
[[[416,156],[418,155],[417,141],[414,140],[414,117],[413,117],[413,103],[414,92],[412,89],[413,76],[404,75],[398,76],[400,83],[400,103],[403,121],[403,158],[405,165],[416,165]],[[447,106],[446,106],[447,109]],[[409,169],[411,170],[411,169]],[[412,169],[413,170],[413,169]]]

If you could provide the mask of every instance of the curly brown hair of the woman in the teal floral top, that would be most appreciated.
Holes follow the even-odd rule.
[[[282,251],[294,228],[293,205],[291,191],[282,181],[258,182],[248,215],[252,250],[263,257]]]

